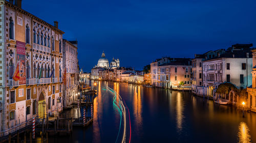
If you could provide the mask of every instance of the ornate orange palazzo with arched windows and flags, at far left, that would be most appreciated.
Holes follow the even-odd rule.
[[[0,130],[4,132],[32,117],[61,110],[64,32],[56,21],[53,26],[24,11],[21,0],[0,1],[0,13]],[[14,81],[17,65],[20,79]]]

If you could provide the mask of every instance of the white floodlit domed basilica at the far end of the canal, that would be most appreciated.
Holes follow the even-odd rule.
[[[94,68],[105,68],[105,69],[114,69],[119,67],[119,59],[114,59],[111,61],[109,66],[109,60],[106,59],[104,51],[101,54],[101,58],[98,61],[97,66]]]

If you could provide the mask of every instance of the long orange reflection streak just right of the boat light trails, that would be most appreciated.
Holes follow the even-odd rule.
[[[139,131],[142,126],[142,103],[141,103],[141,87],[140,85],[134,86],[133,108],[136,130]]]

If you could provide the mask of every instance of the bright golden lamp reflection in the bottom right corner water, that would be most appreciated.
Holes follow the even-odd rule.
[[[246,123],[241,122],[238,126],[238,141],[239,143],[248,143],[251,141],[249,134],[249,128]]]

